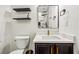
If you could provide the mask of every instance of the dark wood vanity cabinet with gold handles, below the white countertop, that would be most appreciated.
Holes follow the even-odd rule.
[[[35,54],[73,54],[73,44],[35,43]]]

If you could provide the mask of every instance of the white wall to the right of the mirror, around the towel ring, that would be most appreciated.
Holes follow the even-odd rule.
[[[75,39],[75,53],[79,53],[79,6],[77,5],[64,5],[60,6],[59,10],[66,9],[67,13],[60,16],[59,31],[74,34]]]

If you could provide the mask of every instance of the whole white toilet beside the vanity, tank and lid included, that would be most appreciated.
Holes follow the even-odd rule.
[[[15,43],[17,49],[12,51],[10,54],[23,54],[25,48],[27,48],[29,44],[29,36],[16,36]]]

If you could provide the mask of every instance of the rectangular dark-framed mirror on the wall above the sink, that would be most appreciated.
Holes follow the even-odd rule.
[[[39,5],[37,7],[38,28],[57,29],[59,27],[58,5]]]

